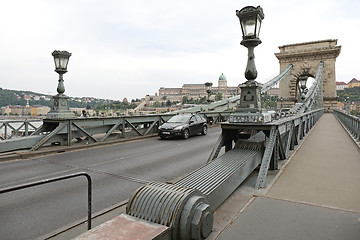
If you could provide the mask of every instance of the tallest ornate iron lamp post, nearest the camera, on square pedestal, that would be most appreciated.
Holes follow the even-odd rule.
[[[261,85],[255,81],[257,70],[255,66],[254,48],[261,43],[259,39],[261,22],[264,19],[264,13],[260,6],[247,6],[241,10],[236,10],[239,18],[242,41],[241,45],[248,49],[248,60],[245,69],[245,78],[247,81],[240,85],[241,98],[239,112],[261,112]]]

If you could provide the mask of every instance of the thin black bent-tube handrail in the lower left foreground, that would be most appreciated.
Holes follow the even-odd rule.
[[[0,194],[13,192],[13,191],[17,191],[17,190],[21,190],[21,189],[25,189],[25,188],[35,187],[35,186],[39,186],[39,185],[43,185],[43,184],[47,184],[47,183],[57,182],[57,181],[61,181],[61,180],[69,179],[69,178],[80,177],[80,176],[85,176],[88,181],[88,220],[87,220],[87,222],[88,222],[88,230],[90,230],[91,229],[91,205],[92,205],[92,200],[91,200],[92,199],[92,197],[91,197],[92,196],[92,190],[91,190],[92,189],[92,181],[91,181],[90,175],[85,172],[74,173],[74,174],[65,175],[65,176],[61,176],[61,177],[54,177],[54,178],[44,179],[44,180],[40,180],[40,181],[36,181],[36,182],[21,184],[21,185],[17,185],[17,186],[13,186],[13,187],[3,188],[3,189],[0,189]]]

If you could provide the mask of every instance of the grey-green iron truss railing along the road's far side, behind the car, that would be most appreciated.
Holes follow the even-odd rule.
[[[226,121],[231,112],[202,112],[209,124]],[[0,153],[20,149],[36,151],[43,146],[103,142],[157,134],[158,127],[175,113],[161,115],[44,119],[30,136],[1,140]],[[74,141],[73,141],[74,140]]]

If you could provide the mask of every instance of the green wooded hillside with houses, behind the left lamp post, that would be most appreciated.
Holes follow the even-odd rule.
[[[31,91],[18,91],[18,90],[8,90],[0,88],[0,107],[7,105],[19,105],[26,106],[27,100],[24,96],[29,97],[29,105],[36,106],[53,106],[52,96],[35,93]],[[135,108],[136,104],[133,100],[131,103],[124,103],[120,101],[107,100],[107,99],[98,99],[98,98],[70,98],[69,106],[71,108],[87,108],[87,109],[131,109]]]

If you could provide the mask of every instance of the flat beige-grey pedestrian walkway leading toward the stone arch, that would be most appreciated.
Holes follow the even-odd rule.
[[[237,213],[208,239],[360,239],[360,150],[324,114],[270,190],[250,195],[220,207]]]

